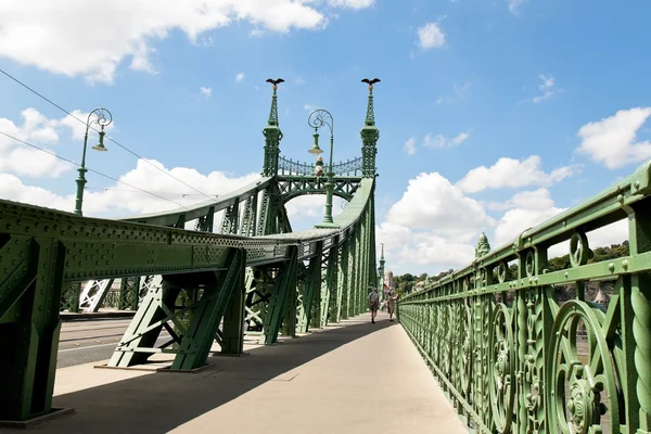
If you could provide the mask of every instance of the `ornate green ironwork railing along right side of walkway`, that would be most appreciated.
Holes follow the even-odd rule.
[[[647,162],[512,245],[477,248],[472,265],[398,303],[400,322],[470,427],[651,432],[650,179]],[[628,255],[591,263],[589,232],[617,220],[628,224]],[[570,266],[550,271],[548,252],[565,241]],[[607,307],[586,296],[588,282],[604,280],[614,281]]]

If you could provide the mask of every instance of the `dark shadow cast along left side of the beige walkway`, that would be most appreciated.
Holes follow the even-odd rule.
[[[75,413],[30,431],[94,434],[170,431],[266,382],[291,381],[294,374],[285,378],[283,374],[292,369],[378,330],[397,326],[397,322],[386,320],[371,324],[363,320],[366,317],[356,317],[275,346],[254,348],[248,352],[250,356],[210,357],[209,366],[195,373],[146,373],[55,396],[55,407],[74,407]],[[104,375],[111,371],[112,378],[120,378],[113,370],[87,366],[68,369],[79,369],[79,375],[85,376]],[[78,380],[81,382],[80,376]],[[269,396],[270,400],[273,398]],[[242,423],[246,424],[246,421]]]

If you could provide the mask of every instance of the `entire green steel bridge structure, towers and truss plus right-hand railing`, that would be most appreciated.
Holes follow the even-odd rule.
[[[118,307],[136,314],[114,368],[167,353],[171,369],[193,371],[215,342],[241,355],[245,337],[271,345],[365,312],[378,284],[372,89],[361,156],[331,164],[330,186],[280,156],[275,85],[261,177],[218,200],[119,220],[0,201],[0,420],[53,411],[60,311],[97,311],[116,279]],[[347,201],[334,224],[292,231],[285,203],[328,188]],[[650,196],[648,162],[513,243],[490,250],[482,238],[472,264],[398,303],[469,430],[651,433]],[[623,219],[628,256],[590,261],[589,232]],[[566,241],[569,268],[549,271],[550,247]],[[608,308],[585,291],[605,280]],[[163,330],[171,339],[157,345]]]

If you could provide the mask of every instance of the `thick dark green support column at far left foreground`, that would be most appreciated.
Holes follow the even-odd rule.
[[[0,248],[0,267],[12,264],[16,272],[0,281],[0,342],[11,348],[0,357],[0,419],[24,421],[52,410],[65,247],[11,238]]]

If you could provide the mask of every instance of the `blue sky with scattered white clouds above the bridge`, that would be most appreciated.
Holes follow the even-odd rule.
[[[397,273],[463,266],[482,231],[492,244],[509,241],[651,157],[651,3],[641,0],[168,8],[125,0],[103,8],[0,5],[0,67],[69,111],[107,107],[111,137],[208,195],[261,169],[265,79],[286,81],[279,88],[282,155],[307,162],[307,115],[317,106],[334,117],[334,159],[359,155],[367,95],[359,81],[381,78],[376,233]],[[0,131],[80,159],[82,131],[64,113],[3,75],[0,95]],[[110,152],[89,152],[89,167],[174,202],[205,199],[106,145]],[[0,196],[72,208],[75,170],[27,151],[0,137]],[[175,206],[88,179],[87,215]],[[292,203],[294,227],[318,221],[321,203]],[[625,237],[620,225],[592,244]]]

